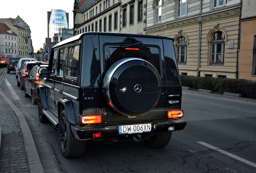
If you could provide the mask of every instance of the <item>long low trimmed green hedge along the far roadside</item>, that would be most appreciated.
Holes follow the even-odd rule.
[[[182,86],[191,89],[206,89],[215,93],[224,92],[241,94],[242,97],[256,99],[256,81],[231,78],[208,78],[195,76],[180,76]]]

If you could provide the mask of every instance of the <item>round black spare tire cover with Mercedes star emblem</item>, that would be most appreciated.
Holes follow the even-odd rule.
[[[140,58],[124,58],[115,62],[103,79],[103,95],[116,112],[140,116],[157,104],[161,80],[156,68]]]

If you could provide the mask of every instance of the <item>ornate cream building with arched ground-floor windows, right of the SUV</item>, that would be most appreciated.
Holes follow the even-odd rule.
[[[180,74],[237,78],[242,0],[148,0],[146,34],[175,39]]]

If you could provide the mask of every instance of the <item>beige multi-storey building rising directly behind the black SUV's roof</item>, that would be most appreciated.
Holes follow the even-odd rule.
[[[145,34],[146,0],[75,0],[74,35],[83,32]]]

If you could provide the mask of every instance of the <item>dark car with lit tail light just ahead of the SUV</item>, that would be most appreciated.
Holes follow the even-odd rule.
[[[27,78],[24,83],[24,96],[32,97],[32,104],[36,105],[38,100],[38,92],[37,88],[41,86],[43,78],[46,77],[48,64],[39,64],[33,66],[30,70]],[[26,74],[21,74],[22,76],[26,76]]]

